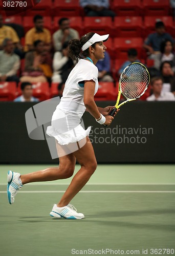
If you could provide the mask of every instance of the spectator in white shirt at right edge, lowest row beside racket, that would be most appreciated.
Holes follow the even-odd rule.
[[[159,76],[151,78],[150,88],[152,95],[147,97],[147,101],[174,101],[175,97],[171,92],[163,92],[163,80]]]

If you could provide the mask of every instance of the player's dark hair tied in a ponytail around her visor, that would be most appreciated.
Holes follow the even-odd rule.
[[[82,59],[83,57],[89,56],[89,48],[85,51],[81,51],[81,47],[87,42],[95,33],[90,32],[88,34],[83,35],[80,40],[79,39],[72,39],[69,42],[69,56],[78,62],[78,59]],[[95,44],[94,44],[95,45]],[[94,46],[92,45],[92,46]]]

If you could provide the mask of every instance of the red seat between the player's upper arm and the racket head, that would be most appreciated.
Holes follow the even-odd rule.
[[[95,100],[115,100],[116,93],[113,82],[99,82],[99,88],[94,96]]]

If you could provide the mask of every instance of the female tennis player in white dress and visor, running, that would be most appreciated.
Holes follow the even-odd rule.
[[[91,127],[84,130],[80,125],[80,119],[85,110],[89,111],[99,124],[110,125],[114,119],[108,115],[114,106],[98,108],[94,101],[94,95],[98,90],[98,69],[95,64],[104,58],[106,47],[103,42],[108,36],[88,33],[80,40],[73,39],[69,42],[69,55],[77,64],[65,82],[63,96],[53,113],[51,126],[47,129],[47,134],[56,139],[59,166],[26,175],[9,170],[7,193],[10,204],[14,202],[17,191],[26,183],[71,177],[77,159],[81,168],[58,204],[54,204],[50,216],[64,219],[84,218],[70,201],[95,172],[97,161],[88,137]],[[117,112],[118,110],[115,114]]]

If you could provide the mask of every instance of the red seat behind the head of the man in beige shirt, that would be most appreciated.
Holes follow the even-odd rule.
[[[53,22],[53,31],[55,32],[56,30],[59,29],[58,25],[58,20],[62,17],[54,17],[54,22]],[[82,23],[82,17],[80,16],[70,16],[70,27],[77,30],[80,34],[80,36],[83,35],[83,23]]]

